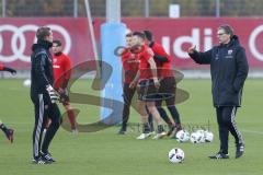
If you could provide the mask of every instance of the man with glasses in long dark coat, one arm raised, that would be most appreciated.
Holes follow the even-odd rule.
[[[211,91],[219,126],[220,151],[210,159],[228,159],[229,131],[236,140],[236,159],[244,152],[244,141],[235,121],[237,107],[241,106],[241,96],[249,66],[244,48],[229,25],[218,27],[219,46],[205,52],[188,48],[188,54],[197,63],[210,65]]]

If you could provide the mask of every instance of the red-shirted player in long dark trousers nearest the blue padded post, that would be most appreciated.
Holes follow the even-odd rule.
[[[136,55],[130,51],[130,48],[133,46],[133,34],[128,33],[125,38],[127,47],[124,50],[122,50],[121,54],[124,73],[123,79],[124,109],[122,128],[118,131],[119,135],[125,135],[127,130],[127,122],[129,119],[129,107],[136,91],[136,89],[130,89],[129,84],[134,80],[139,67],[139,60],[136,58]]]

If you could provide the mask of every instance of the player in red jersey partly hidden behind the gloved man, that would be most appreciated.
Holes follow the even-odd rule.
[[[71,75],[71,61],[70,58],[65,55],[62,51],[62,44],[60,40],[53,42],[53,70],[55,84],[54,89],[60,94],[60,98],[62,98],[62,105],[67,110],[68,118],[71,125],[72,132],[77,133],[78,130],[76,128],[76,116],[69,103],[69,96],[67,91],[68,81]]]

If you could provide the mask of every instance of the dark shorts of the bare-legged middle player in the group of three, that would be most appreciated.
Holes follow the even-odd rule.
[[[138,100],[145,102],[155,102],[158,100],[158,89],[152,79],[139,81],[137,85]]]

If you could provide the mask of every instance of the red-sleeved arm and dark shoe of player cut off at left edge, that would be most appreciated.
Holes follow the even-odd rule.
[[[0,71],[8,71],[11,72],[12,74],[16,73],[16,70],[5,67],[2,63],[0,63]],[[13,133],[14,130],[11,128],[8,128],[1,120],[0,120],[0,129],[3,131],[3,133],[5,135],[5,137],[8,138],[8,140],[11,141],[11,143],[13,142]]]

